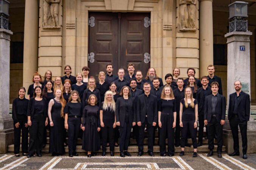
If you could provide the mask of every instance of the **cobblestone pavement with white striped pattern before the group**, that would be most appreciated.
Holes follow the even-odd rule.
[[[107,154],[105,157],[98,153],[98,156],[87,158],[85,153],[70,158],[68,155],[51,156],[44,154],[42,157],[27,158],[26,156],[16,157],[13,153],[0,154],[0,170],[2,169],[40,169],[40,170],[71,170],[71,169],[98,169],[98,170],[118,170],[118,169],[189,169],[189,170],[255,170],[256,154],[248,155],[248,159],[242,159],[242,156],[230,157],[223,153],[223,158],[214,156],[207,157],[206,153],[198,153],[197,158],[192,157],[192,153],[185,153],[183,157],[175,153],[173,157],[161,157],[155,153],[155,157],[144,153],[138,157],[132,153],[131,157],[121,158],[119,153],[115,156]]]

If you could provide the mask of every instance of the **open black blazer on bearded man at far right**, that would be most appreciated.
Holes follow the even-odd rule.
[[[234,111],[236,92],[229,95],[229,106],[228,106],[228,120],[231,119]],[[250,119],[250,95],[240,92],[240,100],[238,104],[238,117],[241,122],[249,121]]]

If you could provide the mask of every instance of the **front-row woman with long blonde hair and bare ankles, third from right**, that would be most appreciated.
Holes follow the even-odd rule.
[[[198,102],[193,98],[192,89],[185,88],[185,98],[180,101],[180,127],[181,127],[181,153],[184,155],[185,139],[188,133],[192,138],[194,153],[197,157],[197,119],[198,119]]]

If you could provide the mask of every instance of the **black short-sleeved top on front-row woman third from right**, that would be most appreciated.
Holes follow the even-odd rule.
[[[194,108],[190,106],[188,103],[187,108],[185,106],[185,100],[181,99],[181,104],[183,104],[183,113],[182,113],[182,121],[195,121],[195,105],[197,104],[197,99],[194,100]]]

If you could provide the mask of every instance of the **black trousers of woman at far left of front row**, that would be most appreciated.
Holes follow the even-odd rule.
[[[25,123],[28,121],[28,117],[26,115],[18,115],[17,119],[19,121],[19,127],[15,127],[15,123],[13,124],[14,127],[14,154],[20,153],[20,131],[22,131],[22,142],[21,142],[21,149],[22,154],[28,153],[28,128],[25,127]]]

